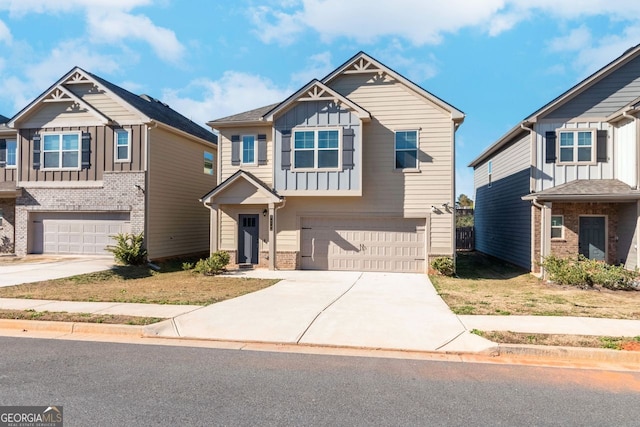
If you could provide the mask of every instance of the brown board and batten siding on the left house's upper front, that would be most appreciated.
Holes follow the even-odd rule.
[[[18,163],[20,164],[20,181],[101,181],[104,172],[139,172],[144,164],[144,126],[125,126],[122,129],[131,131],[131,160],[116,162],[114,155],[115,129],[110,126],[68,126],[41,129],[20,129],[18,141]],[[79,170],[43,170],[42,140],[40,142],[40,169],[33,168],[33,137],[47,132],[82,132],[91,135],[90,166]]]

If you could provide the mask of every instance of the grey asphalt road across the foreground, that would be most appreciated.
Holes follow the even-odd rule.
[[[637,426],[640,373],[0,338],[0,405],[69,426]]]

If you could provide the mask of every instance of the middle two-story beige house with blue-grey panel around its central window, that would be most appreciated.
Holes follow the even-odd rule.
[[[463,120],[361,52],[281,103],[209,122],[211,250],[272,269],[425,272],[455,252]]]

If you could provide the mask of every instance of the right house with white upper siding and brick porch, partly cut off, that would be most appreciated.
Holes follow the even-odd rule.
[[[524,119],[469,166],[476,248],[640,266],[640,45]]]

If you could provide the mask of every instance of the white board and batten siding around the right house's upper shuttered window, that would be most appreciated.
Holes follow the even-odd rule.
[[[547,163],[546,156],[546,132],[557,132],[559,130],[606,130],[607,136],[607,162],[593,162],[589,164],[568,163],[562,164],[560,158],[558,142],[556,141],[556,161]],[[536,164],[538,168],[534,171],[536,181],[535,191],[540,192],[552,187],[556,187],[576,179],[613,179],[614,167],[611,144],[611,128],[608,123],[600,121],[578,121],[578,122],[547,122],[543,121],[535,125],[536,132]],[[558,138],[559,139],[559,138]],[[594,146],[596,141],[593,141]],[[594,149],[595,157],[595,149]]]

